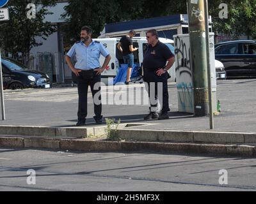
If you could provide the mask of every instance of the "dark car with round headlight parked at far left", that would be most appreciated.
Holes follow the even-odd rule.
[[[50,78],[45,73],[27,68],[12,59],[2,58],[4,89],[50,88]]]

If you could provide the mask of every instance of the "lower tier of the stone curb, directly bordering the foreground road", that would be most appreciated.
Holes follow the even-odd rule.
[[[166,142],[108,142],[89,141],[86,139],[56,138],[22,138],[0,137],[0,147],[60,149],[74,151],[97,152],[154,152],[154,153],[186,153],[214,154],[221,156],[256,157],[256,146],[253,145],[217,145],[198,143],[166,143]]]

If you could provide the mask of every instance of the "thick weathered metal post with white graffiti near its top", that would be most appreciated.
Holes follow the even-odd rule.
[[[195,116],[202,117],[209,114],[204,0],[188,0],[188,16]]]

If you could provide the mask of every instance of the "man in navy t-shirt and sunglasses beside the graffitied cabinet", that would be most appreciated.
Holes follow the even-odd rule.
[[[152,119],[169,119],[169,94],[168,94],[168,69],[170,69],[175,61],[172,51],[158,40],[158,34],[155,29],[147,32],[148,50],[143,58],[144,82],[148,85],[148,96],[150,98],[150,113],[144,118],[145,120]],[[168,62],[166,64],[166,62]],[[150,91],[152,84],[154,94]],[[163,101],[161,106],[161,115],[157,114],[157,85],[163,85]]]

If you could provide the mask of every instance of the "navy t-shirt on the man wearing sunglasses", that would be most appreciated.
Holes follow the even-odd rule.
[[[167,60],[171,57],[174,57],[172,51],[167,45],[158,41],[155,47],[148,46],[143,59],[143,69],[145,71],[157,71],[159,68],[164,68]]]

